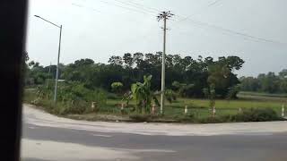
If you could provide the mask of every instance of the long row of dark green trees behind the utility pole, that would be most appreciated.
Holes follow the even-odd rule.
[[[105,89],[112,92],[111,84],[121,82],[122,92],[131,84],[142,82],[144,75],[152,75],[151,89],[161,89],[162,53],[126,53],[112,55],[108,64],[95,63],[91,59],[76,60],[73,64],[60,64],[60,79],[78,81],[88,89]],[[244,61],[238,56],[196,58],[180,55],[166,56],[166,88],[176,90],[182,97],[204,97],[206,91],[215,90],[216,97],[236,97],[239,79],[234,73]],[[42,66],[31,61],[27,64],[26,85],[47,83],[55,79],[56,65]],[[208,92],[207,92],[208,93]]]

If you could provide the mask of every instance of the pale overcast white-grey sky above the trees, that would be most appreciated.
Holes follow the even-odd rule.
[[[175,14],[168,21],[167,54],[191,55],[193,58],[198,55],[215,58],[238,55],[246,61],[239,75],[287,69],[286,0],[222,0],[207,7],[216,1],[30,0],[27,51],[30,60],[44,65],[57,63],[59,30],[34,14],[63,25],[60,62],[64,64],[81,58],[107,63],[110,55],[161,51],[162,21],[156,20],[159,12],[149,8],[144,10],[143,6],[146,6]],[[125,4],[129,2],[141,6],[135,8]],[[139,13],[141,11],[143,13]],[[258,42],[199,26],[190,19],[180,21],[188,15],[193,15],[190,19],[195,21],[286,44]]]

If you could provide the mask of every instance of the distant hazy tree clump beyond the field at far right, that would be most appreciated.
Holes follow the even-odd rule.
[[[287,93],[287,70],[276,75],[274,72],[255,77],[241,77],[241,89],[266,93]]]

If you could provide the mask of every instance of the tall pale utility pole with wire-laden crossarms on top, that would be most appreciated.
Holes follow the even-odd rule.
[[[161,67],[161,114],[163,114],[164,107],[164,92],[165,92],[165,47],[166,47],[166,31],[167,31],[167,20],[174,14],[168,12],[161,12],[157,18],[158,21],[163,20],[163,51],[162,51],[162,67]]]

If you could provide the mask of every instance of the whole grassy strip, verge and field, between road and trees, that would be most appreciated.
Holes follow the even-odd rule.
[[[69,105],[57,103],[57,106],[47,99],[35,99],[33,90],[26,90],[24,102],[39,106],[50,114],[57,114],[76,120],[106,121],[106,122],[155,122],[155,123],[235,123],[235,122],[265,122],[284,120],[281,114],[282,101],[270,99],[261,100],[216,100],[216,115],[208,107],[206,99],[179,98],[172,104],[165,106],[163,116],[156,114],[135,114],[135,102],[123,111],[120,110],[120,100],[108,99],[106,106],[91,111],[91,105],[86,102]],[[184,106],[188,106],[184,114]],[[239,108],[242,111],[239,111]]]

